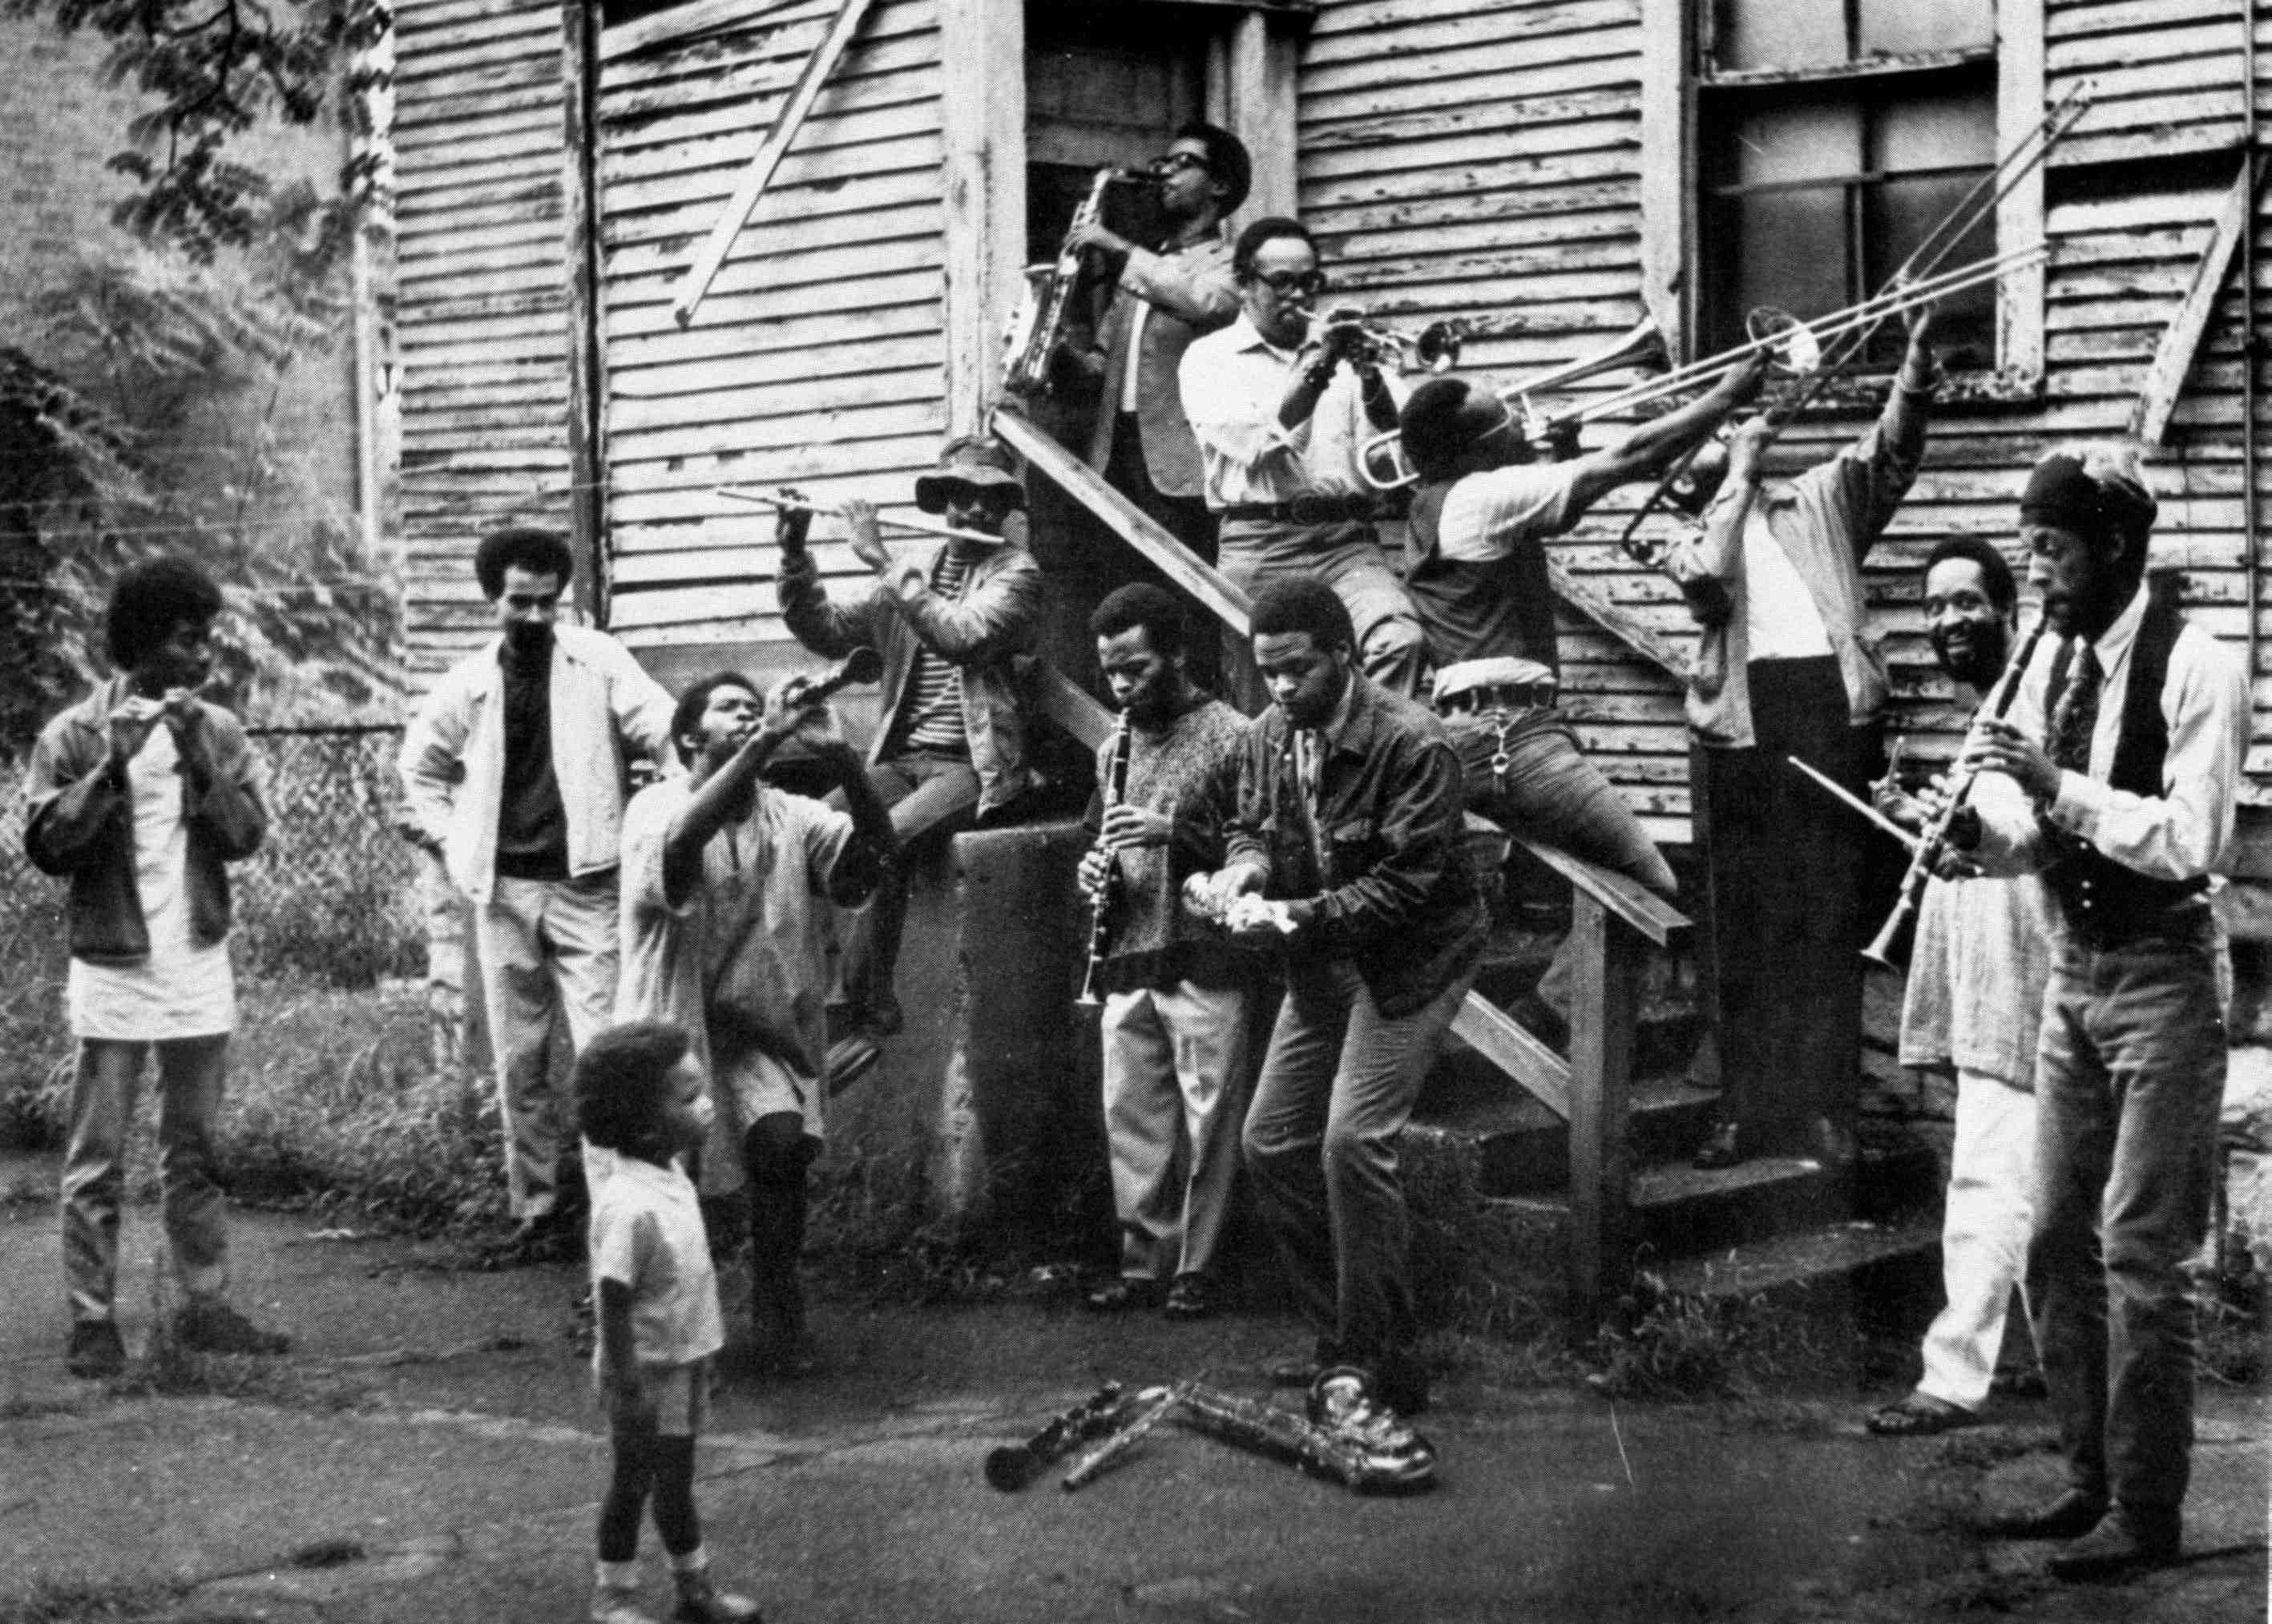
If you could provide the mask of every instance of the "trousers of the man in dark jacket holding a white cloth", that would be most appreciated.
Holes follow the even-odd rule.
[[[1290,974],[1241,1138],[1302,1313],[1336,1358],[1375,1374],[1415,1333],[1397,1136],[1472,981],[1390,1018],[1345,959]]]

